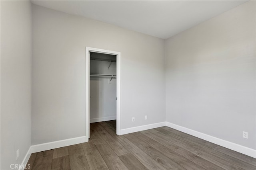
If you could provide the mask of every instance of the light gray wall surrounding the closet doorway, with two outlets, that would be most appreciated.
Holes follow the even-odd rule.
[[[32,42],[32,145],[85,135],[86,47],[121,52],[121,129],[165,121],[163,39],[32,5]]]

